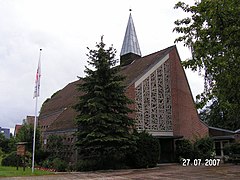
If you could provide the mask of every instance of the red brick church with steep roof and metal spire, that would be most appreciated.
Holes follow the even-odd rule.
[[[175,141],[204,137],[209,127],[203,123],[195,108],[192,93],[181,65],[176,46],[142,56],[133,19],[130,13],[120,53],[121,74],[126,76],[126,95],[134,100],[130,116],[135,119],[138,131],[147,131],[158,138],[161,145],[160,162],[174,160]],[[74,162],[77,152],[74,147],[77,131],[72,108],[81,92],[69,83],[45,101],[41,108],[39,124],[44,146],[49,135],[63,137],[63,155]]]

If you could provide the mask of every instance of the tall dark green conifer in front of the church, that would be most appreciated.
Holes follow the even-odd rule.
[[[94,70],[85,67],[87,76],[81,78],[78,88],[84,95],[75,106],[80,170],[117,168],[134,143],[130,133],[133,120],[128,116],[131,101],[116,66],[116,50],[105,49],[103,37],[96,48],[88,48],[88,64]]]

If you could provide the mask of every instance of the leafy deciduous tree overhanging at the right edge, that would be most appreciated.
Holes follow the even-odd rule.
[[[202,0],[175,8],[191,17],[175,21],[192,58],[183,66],[204,76],[204,92],[196,97],[202,117],[210,125],[240,128],[240,4],[239,0]],[[206,106],[207,105],[207,106]]]

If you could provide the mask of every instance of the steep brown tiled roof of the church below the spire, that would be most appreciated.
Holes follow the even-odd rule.
[[[171,46],[121,67],[120,73],[126,77],[125,85],[130,86],[138,80],[174,48],[176,46]],[[82,80],[69,83],[43,104],[39,121],[41,121],[40,124],[49,125],[47,131],[76,128],[74,119],[77,113],[72,109],[72,106],[77,103],[78,97],[83,94],[77,90],[76,85],[80,83],[82,83]]]

